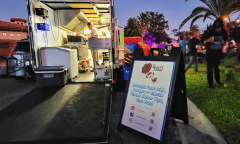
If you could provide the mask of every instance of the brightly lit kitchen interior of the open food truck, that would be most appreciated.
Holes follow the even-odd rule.
[[[114,69],[124,62],[124,48],[112,0],[29,3],[33,67],[66,66],[70,82],[114,81]],[[98,38],[90,37],[88,22],[97,28]]]

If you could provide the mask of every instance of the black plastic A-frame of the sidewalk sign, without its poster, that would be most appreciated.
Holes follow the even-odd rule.
[[[158,51],[158,56],[153,56],[153,51]],[[135,49],[134,54],[133,54],[133,59],[132,59],[132,63],[131,63],[131,67],[130,67],[130,71],[129,71],[129,77],[128,77],[128,82],[126,85],[126,90],[125,90],[125,98],[123,101],[123,107],[121,109],[121,115],[119,118],[119,122],[118,122],[118,131],[128,131],[130,133],[133,133],[143,139],[146,139],[152,143],[156,143],[156,144],[163,144],[166,141],[166,135],[167,135],[167,130],[168,130],[168,124],[169,124],[169,118],[174,117],[180,120],[183,120],[184,123],[188,124],[188,109],[187,109],[187,97],[186,97],[186,82],[185,82],[185,72],[184,72],[184,64],[183,64],[183,54],[182,54],[182,49],[181,48],[173,48],[172,54],[170,56],[163,56],[163,51],[161,48],[151,48],[151,50],[149,51],[149,55],[148,56],[144,56],[143,55],[143,49]],[[132,77],[132,71],[133,71],[133,65],[134,65],[134,61],[168,61],[168,62],[175,62],[175,66],[173,69],[173,75],[172,75],[172,84],[171,84],[171,89],[169,91],[169,97],[168,97],[168,102],[166,104],[166,109],[165,109],[165,118],[163,121],[163,125],[162,125],[162,133],[159,136],[160,139],[157,140],[149,135],[146,135],[144,133],[141,133],[135,129],[132,129],[128,126],[125,126],[122,124],[122,117],[123,117],[123,112],[125,109],[125,104],[127,101],[127,94],[128,94],[128,90],[129,90],[129,84],[131,81],[131,77]],[[183,76],[183,78],[181,80],[184,79],[183,81],[183,85],[181,86],[180,79],[178,77]],[[178,91],[176,91],[178,90]],[[173,98],[174,95],[179,94],[179,90],[182,92],[181,96],[179,96],[180,98],[180,102],[176,102],[177,100],[179,100],[179,98]],[[176,97],[176,96],[175,96]],[[174,101],[173,101],[174,100]],[[177,103],[177,107],[173,107],[172,108],[172,103]],[[180,108],[180,115],[176,114],[176,112],[179,112],[179,110],[177,110],[178,108]]]

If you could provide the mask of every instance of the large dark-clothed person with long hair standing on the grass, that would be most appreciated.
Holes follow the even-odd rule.
[[[213,23],[212,30],[204,40],[206,44],[207,80],[210,88],[213,88],[213,69],[216,82],[222,85],[219,75],[219,64],[222,58],[222,48],[228,40],[228,32],[224,28],[222,19]]]

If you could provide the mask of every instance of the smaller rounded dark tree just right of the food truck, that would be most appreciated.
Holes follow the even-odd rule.
[[[141,26],[136,18],[129,18],[127,20],[127,26],[124,28],[124,35],[126,37],[142,37]]]

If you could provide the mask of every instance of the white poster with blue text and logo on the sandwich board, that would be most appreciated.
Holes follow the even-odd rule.
[[[162,141],[175,62],[135,60],[121,124]]]

